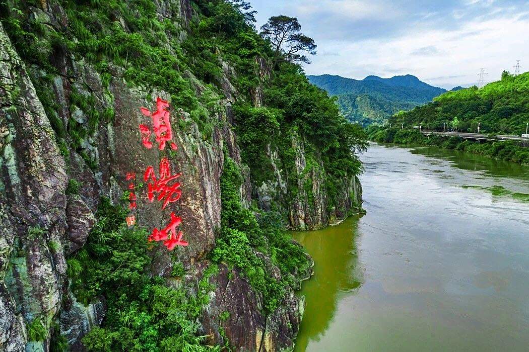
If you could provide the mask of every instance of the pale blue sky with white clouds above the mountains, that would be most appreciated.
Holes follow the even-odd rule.
[[[413,74],[451,89],[529,71],[529,0],[249,0],[257,27],[297,17],[317,55],[307,74],[363,79]]]

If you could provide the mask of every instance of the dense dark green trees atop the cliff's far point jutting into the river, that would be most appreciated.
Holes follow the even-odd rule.
[[[267,107],[253,108],[239,104],[234,109],[235,129],[239,136],[242,159],[250,166],[254,182],[272,180],[270,159],[263,152],[277,146],[286,170],[290,194],[297,193],[295,150],[292,138],[304,137],[308,168],[319,167],[321,160],[327,179],[329,207],[336,193],[333,180],[361,172],[357,153],[366,148],[366,135],[359,125],[342,117],[327,93],[308,82],[299,66],[283,63],[265,90]],[[310,187],[309,187],[310,188]]]

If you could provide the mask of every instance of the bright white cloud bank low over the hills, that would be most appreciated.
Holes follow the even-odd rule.
[[[335,50],[340,56],[316,56],[306,71],[352,78],[411,73],[422,79],[430,78],[428,83],[451,88],[475,82],[479,69],[485,67],[489,73],[487,78],[494,81],[503,70],[512,70],[516,60],[529,61],[529,46],[522,33],[529,33],[528,21],[504,17],[469,22],[453,31],[410,32],[389,41],[334,42],[325,50]]]

